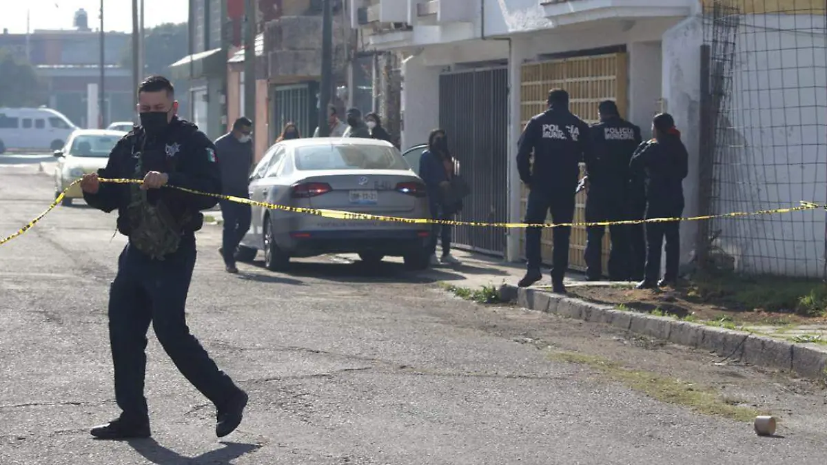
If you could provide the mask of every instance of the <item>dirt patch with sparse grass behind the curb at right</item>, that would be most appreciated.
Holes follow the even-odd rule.
[[[827,324],[827,285],[772,276],[706,275],[676,288],[571,287],[572,296],[679,319],[739,324]]]

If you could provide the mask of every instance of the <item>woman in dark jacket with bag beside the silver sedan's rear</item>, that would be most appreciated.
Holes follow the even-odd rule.
[[[445,131],[434,129],[428,136],[428,150],[423,151],[419,158],[419,177],[427,186],[431,217],[434,219],[450,220],[457,213],[459,205],[446,204],[446,194],[453,176],[454,159],[451,152],[448,151],[448,140]],[[437,237],[442,239],[442,258],[438,261]],[[437,265],[440,261],[449,265],[460,264],[460,261],[451,255],[451,226],[447,224],[433,225],[428,252],[431,254],[432,265]]]

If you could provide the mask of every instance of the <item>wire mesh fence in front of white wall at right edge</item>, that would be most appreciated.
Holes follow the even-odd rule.
[[[710,213],[827,203],[825,0],[705,1]],[[706,223],[705,265],[827,277],[825,211]]]

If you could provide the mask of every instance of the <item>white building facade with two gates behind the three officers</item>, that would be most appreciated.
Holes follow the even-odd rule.
[[[622,115],[642,127],[644,137],[651,134],[654,114],[672,113],[691,154],[690,174],[683,186],[685,216],[692,216],[702,209],[711,212],[734,208],[731,203],[726,204],[725,199],[710,205],[705,198],[712,187],[699,187],[699,175],[706,172],[700,165],[702,103],[709,100],[705,95],[702,98],[702,84],[707,82],[710,69],[701,66],[704,17],[705,11],[717,3],[713,0],[705,0],[703,4],[700,0],[351,0],[351,25],[366,36],[362,41],[366,50],[392,50],[406,55],[402,66],[403,149],[425,141],[434,127],[447,130],[463,175],[471,180],[473,189],[462,219],[519,223],[526,192],[516,170],[517,141],[528,118],[545,108],[546,93],[552,88],[568,90],[572,111],[587,122],[596,121],[597,104],[601,100],[614,99]],[[779,15],[789,13],[766,11],[766,8],[750,10],[748,4],[755,3],[751,0],[729,3],[736,16],[752,22],[766,22],[767,17],[782,21],[777,19]],[[824,2],[811,3],[810,8],[800,13],[813,18],[820,15],[823,22]],[[740,27],[750,26],[745,22]],[[752,27],[756,27],[755,24]],[[811,32],[805,34],[810,36],[808,40],[824,40],[823,34],[819,38]],[[772,34],[772,30],[768,28],[763,33]],[[761,33],[751,34],[755,41],[755,35]],[[812,55],[812,46],[806,50]],[[820,66],[823,70],[823,62]],[[813,70],[809,68],[803,73],[813,74]],[[750,76],[758,79],[758,74],[760,71],[753,71]],[[818,77],[810,81],[823,79],[823,73],[815,75]],[[748,79],[740,80],[748,82]],[[820,86],[824,89],[825,83]],[[810,87],[816,89],[818,85]],[[732,92],[755,93],[756,90],[742,88]],[[741,97],[743,100],[743,95]],[[823,114],[824,108],[820,111]],[[753,139],[756,137],[753,134]],[[810,142],[801,142],[801,145],[815,144],[818,148],[811,151],[821,153],[825,147],[822,139],[823,134],[812,135]],[[755,140],[757,146],[753,150],[766,152],[766,147],[760,147],[760,142]],[[752,155],[744,152],[742,156]],[[809,157],[810,161],[818,158],[812,154]],[[822,156],[819,163],[827,165],[825,158],[827,156]],[[711,178],[706,181],[712,182]],[[576,221],[584,220],[585,195],[577,197]],[[779,195],[767,198],[766,204],[790,201]],[[776,221],[780,220],[776,218]],[[824,242],[823,218],[813,221],[813,228],[820,222],[821,242]],[[722,227],[734,231],[743,226],[725,223]],[[752,228],[766,228],[766,225],[753,223]],[[708,240],[708,237],[700,238],[703,234],[698,222],[681,224],[684,264],[694,261],[699,241]],[[457,228],[456,236],[464,247],[502,255],[510,261],[523,258],[522,229]],[[543,234],[546,259],[551,258],[551,239],[548,229]],[[766,239],[772,240],[772,237]],[[743,238],[742,242],[747,239]],[[796,251],[791,247],[786,256],[794,257],[791,260],[810,253],[823,257],[824,245],[816,242],[810,242],[805,250]],[[570,251],[572,268],[585,268],[585,245],[585,228],[574,228]],[[606,237],[606,253],[608,245]],[[749,270],[744,267],[745,261],[739,263],[741,269]],[[807,274],[803,270],[784,271],[785,274],[802,272]]]

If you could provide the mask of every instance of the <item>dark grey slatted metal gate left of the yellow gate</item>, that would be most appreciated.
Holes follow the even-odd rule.
[[[457,219],[508,221],[508,70],[457,71],[439,77],[439,125],[471,195]],[[500,228],[461,226],[454,242],[471,250],[501,255]]]

